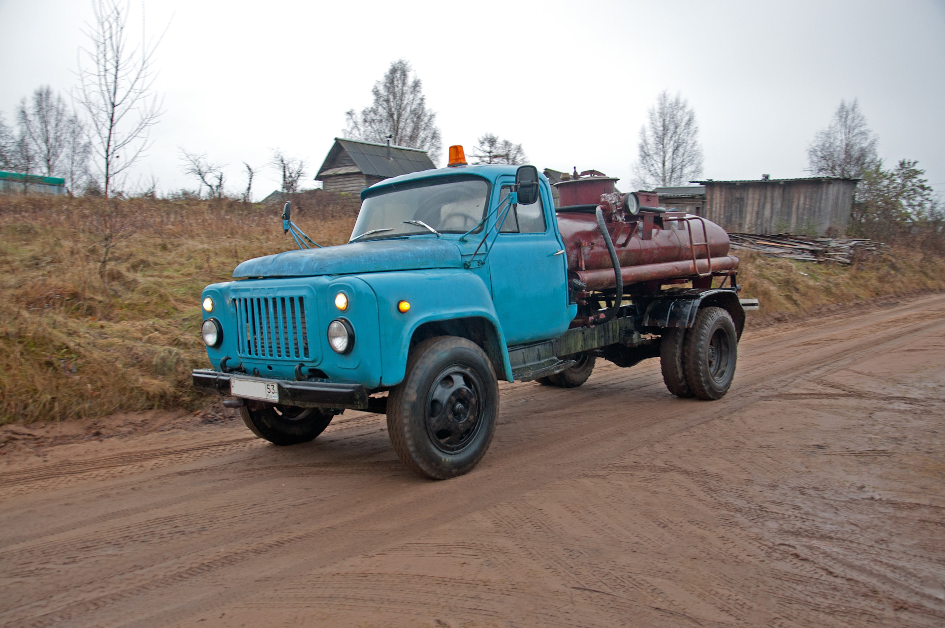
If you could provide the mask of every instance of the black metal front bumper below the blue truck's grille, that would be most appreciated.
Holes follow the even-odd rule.
[[[194,387],[200,392],[232,396],[230,392],[232,373],[221,373],[209,368],[195,368],[192,375]],[[242,374],[238,377],[242,380],[275,383],[279,386],[279,402],[284,405],[301,408],[351,408],[352,410],[368,410],[369,408],[368,390],[358,382],[337,380],[289,382]]]

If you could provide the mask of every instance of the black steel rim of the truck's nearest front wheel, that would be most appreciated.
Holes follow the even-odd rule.
[[[430,442],[444,453],[459,453],[475,440],[482,426],[484,386],[472,369],[451,365],[430,386],[424,422]]]

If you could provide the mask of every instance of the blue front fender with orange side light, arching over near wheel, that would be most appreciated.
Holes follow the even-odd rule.
[[[489,286],[469,270],[435,268],[408,272],[358,275],[377,297],[381,332],[381,385],[393,386],[404,381],[410,340],[417,329],[436,321],[456,318],[481,318],[492,327],[502,360],[502,375],[512,381],[506,338],[499,324]],[[410,309],[398,310],[400,301]]]

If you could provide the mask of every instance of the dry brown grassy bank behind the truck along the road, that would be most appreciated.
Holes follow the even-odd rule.
[[[303,199],[293,218],[320,244],[351,233],[356,199]],[[292,246],[278,210],[134,198],[103,220],[92,198],[0,197],[0,423],[203,407],[198,297],[236,263]],[[101,264],[107,239],[112,262]],[[756,321],[945,289],[945,260],[893,247],[851,266],[740,251]]]

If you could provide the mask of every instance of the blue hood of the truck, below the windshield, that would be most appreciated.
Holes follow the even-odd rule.
[[[462,266],[458,246],[424,237],[285,251],[247,260],[236,266],[233,277],[312,277]]]

